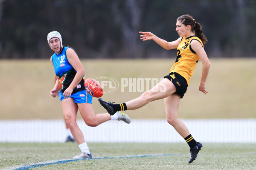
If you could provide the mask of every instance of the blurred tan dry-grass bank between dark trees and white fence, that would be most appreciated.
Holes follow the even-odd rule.
[[[82,60],[86,78],[162,78],[175,59]],[[201,62],[195,68],[188,91],[180,102],[183,119],[256,118],[256,59],[210,59],[211,68],[205,95],[198,90]],[[52,98],[54,71],[49,60],[0,60],[0,119],[62,119],[60,102]],[[126,102],[142,92],[104,94],[111,102]],[[135,111],[131,119],[165,119],[163,99]],[[95,113],[105,113],[96,98]],[[81,116],[78,118],[80,119]]]

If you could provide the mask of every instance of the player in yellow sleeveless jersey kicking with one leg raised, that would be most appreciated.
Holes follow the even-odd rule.
[[[196,22],[190,15],[182,15],[177,18],[176,31],[180,38],[172,42],[167,42],[151,32],[139,32],[142,34],[140,35],[140,39],[143,41],[154,40],[167,50],[177,48],[177,59],[170,70],[170,74],[165,76],[165,79],[151,90],[144,92],[140,97],[129,102],[113,104],[111,102],[105,102],[102,99],[99,99],[99,102],[108,113],[113,114],[116,111],[138,109],[151,101],[164,99],[167,122],[189,144],[191,153],[189,163],[191,163],[195,160],[199,150],[203,146],[193,139],[186,125],[178,118],[177,113],[180,99],[186,93],[189,80],[199,59],[203,65],[199,91],[204,94],[208,93],[205,84],[209,73],[210,62],[204,51],[204,44],[207,43],[207,38],[203,34],[200,23]]]

